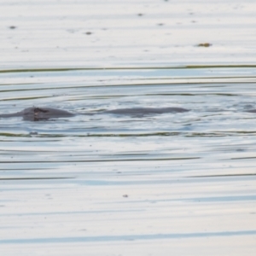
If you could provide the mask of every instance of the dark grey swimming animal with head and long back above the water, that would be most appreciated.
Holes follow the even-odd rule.
[[[57,108],[25,108],[24,110],[16,113],[2,113],[0,118],[12,118],[12,117],[22,117],[24,120],[28,121],[39,121],[47,119],[57,119],[65,117],[73,117],[77,114],[93,115],[99,113],[112,113],[121,115],[131,115],[135,117],[142,117],[151,114],[161,114],[161,113],[183,113],[187,112],[189,109],[185,108],[119,108],[113,110],[106,110],[94,113],[70,113],[66,110],[61,110]]]

